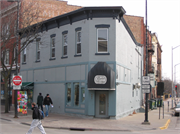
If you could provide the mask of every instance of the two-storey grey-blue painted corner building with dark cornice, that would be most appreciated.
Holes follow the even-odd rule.
[[[117,119],[138,111],[142,101],[142,45],[123,7],[84,7],[43,22],[21,57],[23,82],[50,94],[50,112]],[[36,26],[36,25],[34,25]]]

